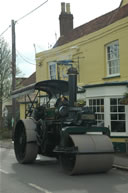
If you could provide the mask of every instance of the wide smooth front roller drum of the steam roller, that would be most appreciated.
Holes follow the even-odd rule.
[[[112,168],[114,150],[108,136],[69,135],[65,143],[67,152],[60,155],[60,163],[69,175],[101,173]]]

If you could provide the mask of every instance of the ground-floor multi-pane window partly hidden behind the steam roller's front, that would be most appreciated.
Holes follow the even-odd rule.
[[[104,99],[90,99],[89,107],[96,115],[97,125],[104,126]]]

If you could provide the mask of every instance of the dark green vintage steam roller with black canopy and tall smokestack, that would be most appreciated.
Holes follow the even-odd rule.
[[[16,90],[13,97],[46,92],[49,101],[27,109],[14,131],[14,151],[19,163],[31,163],[38,154],[55,157],[69,175],[108,172],[114,149],[106,127],[96,126],[95,113],[77,103],[77,70],[68,70],[68,81],[46,80]],[[82,89],[82,88],[81,88]],[[54,106],[51,100],[57,98]],[[68,96],[68,99],[65,97]],[[30,98],[30,96],[28,97]]]

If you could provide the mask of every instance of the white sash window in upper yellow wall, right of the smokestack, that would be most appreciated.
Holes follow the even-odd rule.
[[[120,74],[119,41],[114,41],[106,46],[107,51],[107,75]]]

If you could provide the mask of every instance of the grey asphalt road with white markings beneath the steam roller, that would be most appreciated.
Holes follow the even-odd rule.
[[[128,172],[68,176],[55,159],[37,157],[35,164],[17,163],[13,149],[0,148],[0,193],[127,193]]]

